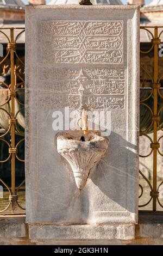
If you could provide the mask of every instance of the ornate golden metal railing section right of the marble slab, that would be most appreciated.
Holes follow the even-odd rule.
[[[159,45],[161,44],[161,35],[163,33],[163,26],[162,27],[140,27],[140,29],[143,29],[149,35],[151,36],[151,46],[149,47],[149,50],[142,51],[140,50],[141,55],[145,54],[149,56],[149,59],[153,58],[153,64],[152,64],[152,74],[149,72],[149,70],[146,69],[145,65],[140,65],[140,68],[143,70],[143,73],[148,77],[146,79],[146,82],[141,81],[141,86],[143,87],[141,90],[141,99],[140,99],[140,114],[141,111],[144,113],[144,118],[149,115],[149,124],[146,123],[144,125],[144,129],[140,131],[140,136],[145,136],[149,139],[149,146],[151,148],[151,151],[147,155],[140,155],[140,157],[149,157],[153,154],[153,173],[151,180],[147,179],[146,175],[143,174],[140,170],[140,175],[144,180],[146,180],[148,186],[149,186],[149,200],[147,202],[143,202],[143,204],[139,205],[140,208],[145,207],[149,205],[152,201],[152,211],[157,210],[157,206],[159,204],[159,208],[163,208],[163,204],[160,202],[159,199],[159,190],[163,184],[163,181],[160,181],[158,184],[158,154],[163,156],[163,153],[160,151],[160,140],[163,138],[163,135],[161,135],[158,138],[158,130],[163,131],[162,129],[162,100],[163,94],[161,90],[161,82],[163,78],[163,74],[160,74],[159,72]],[[143,57],[142,57],[143,59]],[[141,58],[140,58],[141,60]],[[163,57],[162,57],[163,60]],[[147,86],[147,87],[146,87]],[[146,90],[146,93],[143,93],[143,90]],[[148,94],[148,95],[147,95]],[[143,97],[145,95],[145,97]],[[142,108],[144,107],[144,109]],[[145,110],[146,108],[146,110]],[[148,113],[147,113],[148,112]],[[150,114],[149,114],[150,113]],[[142,115],[143,119],[143,115]],[[140,120],[143,122],[143,120]],[[141,126],[141,122],[140,122]],[[153,135],[153,136],[151,136]],[[142,180],[141,180],[142,181]],[[140,184],[141,194],[139,198],[143,197],[143,186]]]

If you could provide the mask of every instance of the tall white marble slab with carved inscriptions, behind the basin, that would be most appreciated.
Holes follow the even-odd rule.
[[[135,6],[26,7],[26,202],[33,229],[72,224],[77,234],[77,224],[137,223],[139,20]],[[52,113],[78,109],[81,84],[85,109],[111,111],[111,135],[105,157],[78,190],[58,154]],[[122,230],[120,237],[130,239]]]

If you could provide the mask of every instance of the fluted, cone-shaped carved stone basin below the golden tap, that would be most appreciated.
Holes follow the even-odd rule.
[[[84,188],[90,170],[104,157],[109,140],[95,133],[87,135],[75,133],[60,133],[57,137],[57,150],[63,156],[73,171],[77,187]]]

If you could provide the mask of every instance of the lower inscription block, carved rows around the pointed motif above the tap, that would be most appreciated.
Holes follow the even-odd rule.
[[[43,67],[39,77],[40,93],[51,93],[40,102],[43,107],[79,108],[82,86],[82,103],[87,109],[124,108],[124,69]]]

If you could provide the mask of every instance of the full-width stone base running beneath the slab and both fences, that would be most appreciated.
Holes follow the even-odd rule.
[[[163,213],[139,212],[139,224],[26,224],[0,217],[0,245],[163,245]]]

